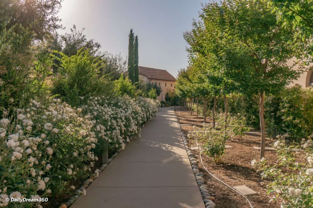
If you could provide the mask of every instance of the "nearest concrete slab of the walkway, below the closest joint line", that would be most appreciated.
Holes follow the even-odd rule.
[[[88,188],[87,194],[71,207],[204,208],[198,190],[198,187]]]

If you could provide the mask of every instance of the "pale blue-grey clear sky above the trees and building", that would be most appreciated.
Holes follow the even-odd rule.
[[[198,19],[201,3],[208,0],[64,0],[59,17],[69,32],[75,24],[85,28],[87,39],[101,44],[101,51],[128,53],[132,28],[139,39],[139,65],[166,69],[176,77],[187,66],[183,32]]]

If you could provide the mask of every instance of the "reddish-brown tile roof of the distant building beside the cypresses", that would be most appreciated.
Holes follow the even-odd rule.
[[[176,81],[175,77],[168,73],[167,70],[153,69],[144,66],[138,66],[138,68],[139,75],[145,75],[148,79]]]

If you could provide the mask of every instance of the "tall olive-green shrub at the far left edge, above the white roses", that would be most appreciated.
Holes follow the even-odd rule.
[[[17,24],[8,28],[8,24],[0,23],[0,116],[5,109],[36,96],[31,86],[34,57],[30,43],[34,33]]]

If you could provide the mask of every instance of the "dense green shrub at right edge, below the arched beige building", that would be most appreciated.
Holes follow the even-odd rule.
[[[300,141],[313,133],[313,92],[300,86],[285,88],[280,94],[266,99],[267,133],[276,138]]]

